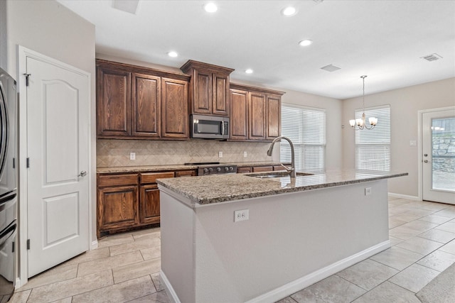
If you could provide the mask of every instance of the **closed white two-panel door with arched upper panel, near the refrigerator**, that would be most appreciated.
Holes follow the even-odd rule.
[[[87,75],[27,57],[28,277],[89,248]]]

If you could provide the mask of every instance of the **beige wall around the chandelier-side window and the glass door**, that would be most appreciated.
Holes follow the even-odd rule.
[[[455,78],[419,84],[365,96],[365,106],[390,104],[392,170],[409,176],[389,180],[389,192],[418,197],[419,142],[418,111],[455,106]],[[362,97],[343,100],[343,167],[355,167],[354,131],[349,119],[362,106]],[[378,121],[380,123],[380,121]]]

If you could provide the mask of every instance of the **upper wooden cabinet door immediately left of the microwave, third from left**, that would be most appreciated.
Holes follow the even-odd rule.
[[[188,82],[161,78],[161,137],[189,138]]]

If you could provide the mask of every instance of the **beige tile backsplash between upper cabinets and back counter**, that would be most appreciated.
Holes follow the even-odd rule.
[[[255,162],[277,160],[267,156],[270,143],[214,140],[152,141],[97,140],[97,167],[173,165],[186,162]],[[223,158],[218,157],[223,152]],[[244,157],[244,152],[247,157]],[[129,154],[136,153],[136,160]]]

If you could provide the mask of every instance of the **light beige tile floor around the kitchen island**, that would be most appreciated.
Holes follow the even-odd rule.
[[[390,198],[389,226],[392,248],[279,303],[419,303],[414,294],[455,263],[455,206]],[[117,234],[33,277],[12,302],[170,302],[159,268],[159,228]]]

